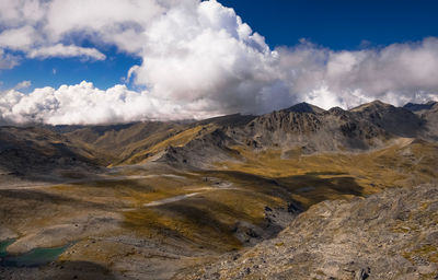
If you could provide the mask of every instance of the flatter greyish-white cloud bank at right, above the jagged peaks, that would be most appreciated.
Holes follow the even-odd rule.
[[[438,97],[435,37],[357,51],[333,51],[304,42],[278,51],[290,92],[325,108],[373,100],[403,105]]]

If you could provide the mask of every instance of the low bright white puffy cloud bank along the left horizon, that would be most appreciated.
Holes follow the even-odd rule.
[[[174,119],[175,116],[193,117],[182,105],[165,103],[148,91],[130,91],[120,84],[103,91],[83,81],[59,89],[36,89],[30,94],[10,90],[0,95],[2,124],[85,125]]]

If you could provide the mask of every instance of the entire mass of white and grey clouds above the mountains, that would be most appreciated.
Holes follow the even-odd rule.
[[[261,114],[307,101],[351,107],[380,98],[436,100],[438,39],[334,51],[301,40],[272,49],[215,0],[0,0],[0,68],[20,57],[104,60],[100,46],[142,58],[127,73],[142,91],[92,83],[0,94],[0,119],[102,124]],[[91,40],[95,47],[82,47]],[[24,58],[21,58],[24,59]]]

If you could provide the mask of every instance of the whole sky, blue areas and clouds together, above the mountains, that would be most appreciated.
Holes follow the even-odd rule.
[[[0,124],[438,100],[437,1],[0,0]]]

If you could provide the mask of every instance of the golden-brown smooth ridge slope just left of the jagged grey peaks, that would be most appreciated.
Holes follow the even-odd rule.
[[[211,145],[215,145],[217,143],[211,137],[209,139],[209,135],[221,128],[220,125],[230,125],[233,121],[247,122],[251,118],[253,117],[231,115],[191,125],[149,121],[84,127],[66,132],[66,137],[89,143],[99,151],[112,154],[114,160],[111,166],[140,164],[165,158],[169,155],[169,149],[184,148],[193,140],[201,139],[204,142],[212,140]],[[192,148],[187,147],[187,149]]]

